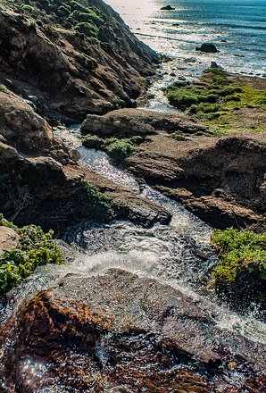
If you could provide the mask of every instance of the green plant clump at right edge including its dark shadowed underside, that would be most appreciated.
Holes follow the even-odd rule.
[[[212,272],[216,288],[237,301],[266,304],[266,233],[214,230],[212,243],[219,256]]]

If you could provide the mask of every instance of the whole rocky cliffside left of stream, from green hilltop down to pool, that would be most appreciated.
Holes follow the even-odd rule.
[[[0,211],[45,228],[130,212],[159,218],[158,206],[80,168],[52,129],[135,106],[157,55],[100,0],[1,1],[0,23]]]

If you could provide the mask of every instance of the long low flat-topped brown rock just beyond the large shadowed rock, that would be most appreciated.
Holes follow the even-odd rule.
[[[208,128],[179,113],[156,113],[143,109],[119,109],[104,116],[88,114],[81,128],[83,134],[102,138],[151,135],[159,131],[195,134],[208,132]]]

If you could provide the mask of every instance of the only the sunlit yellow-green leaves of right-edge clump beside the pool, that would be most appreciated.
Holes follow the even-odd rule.
[[[214,230],[212,243],[219,256],[213,271],[217,285],[230,286],[241,277],[246,284],[266,285],[266,233],[252,230]]]

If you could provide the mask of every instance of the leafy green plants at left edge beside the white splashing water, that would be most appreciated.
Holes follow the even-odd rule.
[[[45,233],[36,225],[18,228],[4,220],[0,225],[12,227],[20,235],[16,248],[0,255],[0,293],[4,294],[25,280],[38,266],[47,263],[64,263],[60,249],[53,241],[53,230]]]

